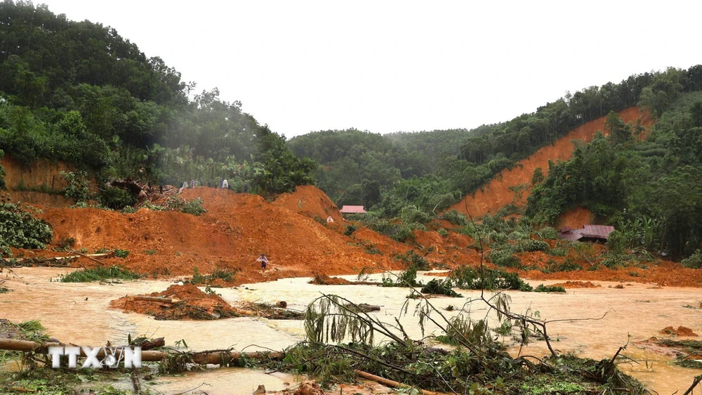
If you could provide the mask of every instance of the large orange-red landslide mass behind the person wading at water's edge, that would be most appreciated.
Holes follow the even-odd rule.
[[[236,283],[245,283],[312,276],[320,271],[353,274],[364,267],[402,267],[399,261],[368,254],[333,228],[271,205],[258,195],[195,188],[180,196],[187,200],[202,197],[208,212],[192,216],[149,209],[121,214],[46,208],[38,215],[53,226],[54,242],[74,238],[77,250],[128,250],[126,259],[107,259],[105,264],[153,276],[191,275],[196,267],[205,274],[219,267],[238,270]],[[261,253],[270,259],[265,276],[254,262]],[[89,261],[86,266],[91,265],[95,263]]]

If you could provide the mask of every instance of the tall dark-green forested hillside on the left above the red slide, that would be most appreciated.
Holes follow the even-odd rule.
[[[284,138],[147,57],[113,27],[74,22],[44,5],[0,3],[0,149],[65,160],[101,181],[230,180],[278,193],[312,183],[315,164]]]

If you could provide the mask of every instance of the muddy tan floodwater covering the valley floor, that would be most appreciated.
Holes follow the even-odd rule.
[[[107,340],[112,344],[125,344],[127,335],[132,337],[165,337],[173,345],[180,339],[192,350],[225,349],[239,351],[263,349],[282,350],[304,339],[303,323],[299,320],[267,320],[265,318],[226,318],[208,321],[162,321],[138,313],[110,309],[112,299],[127,294],[147,294],[165,290],[172,282],[162,280],[137,280],[119,284],[59,283],[55,281],[65,269],[16,268],[3,278],[4,286],[12,291],[0,294],[0,318],[20,322],[40,320],[48,333],[61,342],[99,346]],[[428,281],[430,276],[419,276]],[[352,279],[352,276],[347,276]],[[53,279],[53,280],[52,280]],[[310,285],[309,278],[288,278],[270,283],[242,285],[235,289],[216,288],[228,302],[251,301],[275,303],[284,300],[289,309],[303,311],[312,299],[322,292],[338,294],[357,303],[380,305],[380,318],[392,322],[399,316],[403,304],[408,302],[406,288],[376,287],[371,285]],[[557,281],[529,281],[531,285],[550,285]],[[594,282],[601,287],[570,289],[567,294],[536,292],[508,292],[512,311],[524,313],[538,311],[545,320],[564,318],[601,318],[597,320],[562,321],[548,325],[552,345],[562,353],[602,359],[611,358],[620,346],[629,341],[621,354],[640,363],[622,364],[620,367],[649,389],[659,394],[684,392],[699,370],[680,368],[670,363],[671,357],[654,354],[633,342],[663,337],[661,329],[682,325],[702,334],[702,292],[696,288],[654,287],[646,284]],[[449,304],[463,306],[468,298],[479,297],[478,291],[457,290],[463,298],[437,297],[430,299],[437,308]],[[408,314],[400,321],[414,339],[423,337],[413,316],[416,301],[410,300]],[[685,307],[687,306],[687,307]],[[484,318],[486,307],[481,303],[467,306],[473,318]],[[457,311],[445,311],[447,316]],[[603,317],[604,316],[604,317]],[[490,316],[491,327],[497,326]],[[427,333],[437,330],[428,326]],[[438,333],[437,333],[438,334]],[[381,339],[382,340],[382,339]],[[510,339],[505,339],[510,342]],[[511,347],[512,354],[519,352]],[[534,341],[521,350],[522,354],[544,356],[548,354],[544,342]],[[208,394],[251,394],[258,384],[268,390],[284,389],[295,384],[290,375],[267,375],[260,370],[236,368],[213,369],[201,373],[188,373],[176,377],[165,376],[158,384],[150,386],[164,394],[176,394],[201,387]]]

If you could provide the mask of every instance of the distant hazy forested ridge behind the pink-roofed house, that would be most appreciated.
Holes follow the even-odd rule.
[[[317,131],[292,138],[289,146],[322,164],[318,186],[338,205],[365,205],[381,216],[395,216],[409,205],[431,212],[449,207],[585,122],[635,105],[661,115],[679,93],[697,91],[701,84],[702,65],[646,72],[618,84],[590,86],[536,112],[477,129],[385,136],[355,129]]]

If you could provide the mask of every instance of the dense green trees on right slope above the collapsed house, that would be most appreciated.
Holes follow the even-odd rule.
[[[608,115],[608,137],[598,134],[571,160],[550,164],[527,215],[552,223],[581,205],[620,228],[630,247],[692,254],[702,242],[702,92],[676,97],[644,141],[631,138],[633,125]]]

